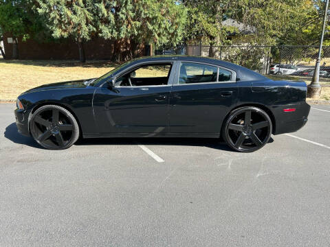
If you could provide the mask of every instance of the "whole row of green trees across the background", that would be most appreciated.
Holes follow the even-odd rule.
[[[0,27],[14,38],[72,38],[85,60],[83,43],[113,40],[113,59],[126,60],[140,44],[200,41],[229,45],[228,18],[255,32],[245,42],[263,45],[318,43],[325,0],[0,0]],[[329,27],[329,23],[327,25]],[[330,43],[325,34],[325,44]]]

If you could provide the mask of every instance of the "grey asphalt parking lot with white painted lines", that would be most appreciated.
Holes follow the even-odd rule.
[[[330,106],[251,153],[209,139],[39,148],[0,104],[0,246],[329,246]]]

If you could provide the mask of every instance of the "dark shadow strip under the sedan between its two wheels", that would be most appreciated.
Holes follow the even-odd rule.
[[[219,139],[206,138],[96,138],[79,139],[75,145],[183,145],[234,152]]]

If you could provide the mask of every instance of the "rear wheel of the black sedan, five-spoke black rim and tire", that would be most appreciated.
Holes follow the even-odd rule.
[[[270,140],[272,121],[264,110],[245,106],[230,113],[222,134],[230,148],[254,152]]]

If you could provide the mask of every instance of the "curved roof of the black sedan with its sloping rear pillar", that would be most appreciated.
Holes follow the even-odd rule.
[[[131,60],[130,64],[133,65],[135,63],[140,63],[140,62],[151,62],[151,61],[162,61],[162,60],[183,60],[183,61],[191,61],[191,62],[205,62],[236,71],[236,78],[238,80],[244,80],[244,81],[270,80],[259,73],[256,73],[240,65],[233,64],[232,62],[218,60],[215,58],[206,58],[201,56],[186,56],[186,55],[147,56],[142,58],[135,58]]]

